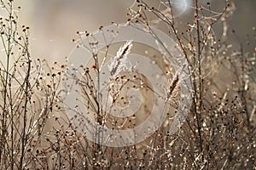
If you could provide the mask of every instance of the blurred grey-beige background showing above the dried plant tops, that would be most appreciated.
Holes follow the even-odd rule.
[[[158,5],[158,1],[146,0]],[[172,0],[176,3],[177,20],[191,18],[193,0]],[[224,0],[200,0],[201,5],[211,2],[212,9],[224,7]],[[230,27],[236,30],[239,41],[247,41],[256,26],[256,1],[235,0],[236,11]],[[20,6],[20,25],[31,27],[31,52],[34,59],[49,62],[64,62],[75,44],[77,31],[96,31],[99,26],[108,26],[112,21],[124,23],[127,8],[134,0],[16,0]]]

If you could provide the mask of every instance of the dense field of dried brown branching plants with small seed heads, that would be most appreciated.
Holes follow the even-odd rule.
[[[256,168],[256,29],[239,42],[229,26],[232,0],[218,11],[194,0],[188,23],[177,22],[175,3],[159,1],[137,0],[125,25],[78,31],[67,63],[49,64],[31,56],[31,28],[21,25],[20,7],[1,0],[0,169]],[[156,48],[146,38],[104,39],[129,26]],[[149,119],[158,128],[137,142],[144,133],[134,129]],[[122,141],[97,127],[136,133]]]

